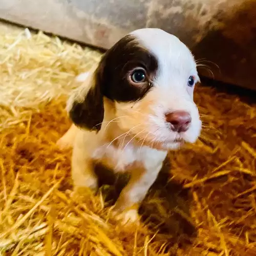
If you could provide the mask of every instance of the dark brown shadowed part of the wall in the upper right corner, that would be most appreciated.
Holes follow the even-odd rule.
[[[219,10],[215,15],[221,26],[207,35],[191,50],[202,65],[209,67],[216,80],[256,90],[256,2],[243,2],[235,10]],[[199,73],[213,78],[202,67]]]

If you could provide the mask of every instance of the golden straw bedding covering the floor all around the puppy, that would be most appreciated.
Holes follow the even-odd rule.
[[[0,255],[256,255],[255,103],[199,86],[200,140],[169,154],[142,224],[122,227],[109,215],[122,177],[73,198],[71,152],[55,145],[72,80],[100,54],[28,30],[0,36]]]

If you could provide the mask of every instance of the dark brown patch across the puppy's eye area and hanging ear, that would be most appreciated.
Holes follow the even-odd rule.
[[[146,74],[139,86],[129,79],[136,68]],[[151,89],[157,68],[156,57],[141,47],[134,36],[123,37],[101,59],[94,84],[84,100],[73,103],[69,113],[72,121],[82,128],[99,131],[104,117],[103,96],[118,102],[137,101]]]

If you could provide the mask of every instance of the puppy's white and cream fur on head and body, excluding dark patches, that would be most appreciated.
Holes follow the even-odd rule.
[[[193,101],[194,88],[187,86],[189,76],[199,80],[196,63],[188,48],[177,37],[160,29],[140,29],[131,34],[158,59],[153,89],[136,102],[118,103],[104,98],[104,120],[100,131],[83,131],[72,125],[72,132],[63,136],[59,144],[74,146],[72,177],[75,187],[96,188],[95,161],[115,172],[131,173],[131,180],[123,189],[115,212],[122,213],[124,220],[134,221],[137,216],[135,205],[143,200],[157,178],[167,151],[180,147],[176,139],[195,142],[201,131],[201,121]],[[82,100],[93,85],[90,84],[92,77],[81,75],[78,80],[81,78],[86,83],[70,99],[67,109],[71,108],[74,99]],[[165,114],[174,111],[186,111],[191,115],[186,132],[170,130]]]

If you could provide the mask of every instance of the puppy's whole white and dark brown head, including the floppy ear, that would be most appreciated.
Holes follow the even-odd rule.
[[[99,131],[105,97],[122,131],[144,144],[174,149],[200,134],[193,101],[198,80],[194,57],[177,37],[160,29],[136,30],[105,53],[91,86],[74,98],[70,117]]]

